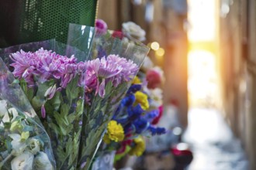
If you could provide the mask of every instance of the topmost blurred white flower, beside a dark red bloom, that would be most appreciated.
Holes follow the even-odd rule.
[[[146,32],[144,31],[144,29],[141,29],[140,26],[138,26],[136,23],[125,22],[123,23],[122,27],[122,31],[126,36],[131,36],[139,41],[144,41],[146,39]]]

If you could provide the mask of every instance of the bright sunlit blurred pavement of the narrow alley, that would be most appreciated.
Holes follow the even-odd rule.
[[[214,109],[189,110],[184,140],[191,144],[194,159],[188,170],[248,170],[240,141]]]

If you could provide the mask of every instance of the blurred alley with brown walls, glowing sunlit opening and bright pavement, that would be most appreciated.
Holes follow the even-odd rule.
[[[188,169],[256,169],[256,1],[99,0],[97,18],[147,32],[164,70],[164,112],[175,107]],[[168,107],[172,106],[172,107]]]

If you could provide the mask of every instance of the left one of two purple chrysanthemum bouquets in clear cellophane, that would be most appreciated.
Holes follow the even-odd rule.
[[[85,95],[85,53],[54,39],[4,49],[50,137],[57,169],[75,169]]]

